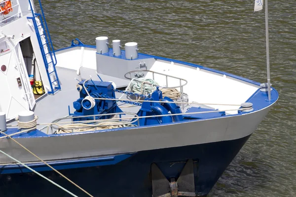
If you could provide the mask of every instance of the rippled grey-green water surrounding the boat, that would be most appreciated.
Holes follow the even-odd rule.
[[[41,1],[55,49],[73,38],[95,45],[104,35],[135,41],[141,53],[266,82],[264,10],[254,13],[254,0]],[[296,1],[268,4],[271,83],[280,99],[210,197],[296,196]]]

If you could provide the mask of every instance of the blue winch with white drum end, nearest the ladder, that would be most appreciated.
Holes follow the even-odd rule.
[[[122,112],[116,104],[115,100],[102,100],[99,98],[112,99],[115,98],[113,86],[111,82],[103,81],[84,81],[77,84],[77,90],[80,98],[73,102],[75,109],[74,116],[87,116],[98,114],[109,114]],[[111,116],[96,116],[96,119],[108,119]],[[93,120],[93,117],[75,118],[74,121]]]

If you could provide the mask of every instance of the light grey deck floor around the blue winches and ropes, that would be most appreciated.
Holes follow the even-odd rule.
[[[77,80],[81,80],[81,75],[77,75],[76,70],[73,69],[63,67],[56,67],[56,69],[61,82],[61,91],[57,92],[55,95],[44,95],[41,98],[37,99],[34,112],[35,115],[38,116],[38,124],[51,123],[56,119],[67,117],[69,115],[69,109],[70,113],[74,113],[75,111],[73,107],[73,102],[79,98],[79,93],[77,92],[76,84],[78,83]],[[96,73],[92,73],[92,75],[96,76],[95,74]],[[93,78],[94,80],[97,80],[97,77]],[[127,86],[126,80],[116,80],[117,78],[115,79],[114,77],[108,75],[102,75],[102,79],[104,81],[116,81],[117,87]],[[116,98],[119,98],[121,97],[121,93],[115,93],[115,96]],[[122,99],[129,99],[129,97],[124,95]],[[138,105],[131,105],[122,102],[118,102],[118,106],[122,111],[131,113],[137,113],[141,107]],[[209,106],[202,104],[184,104],[184,106],[181,106],[182,112],[185,113],[189,107],[202,107],[207,109],[213,109]],[[16,122],[12,122],[10,124],[15,125],[15,123]],[[47,131],[44,125],[37,126],[37,129],[41,130],[42,132]]]

